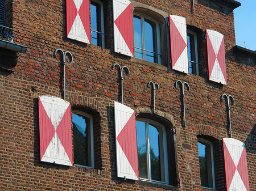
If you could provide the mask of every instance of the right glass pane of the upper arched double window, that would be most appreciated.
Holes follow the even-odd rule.
[[[144,22],[144,31],[145,31],[145,48],[146,50],[149,50],[151,52],[155,52],[155,40],[154,40],[154,31],[155,27],[153,27],[153,24],[150,20],[145,19]],[[156,36],[155,36],[156,37]],[[155,56],[154,53],[145,52],[146,54],[146,60],[150,62],[155,62]]]

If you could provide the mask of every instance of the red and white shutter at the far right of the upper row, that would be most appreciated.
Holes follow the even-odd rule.
[[[224,35],[209,29],[206,34],[209,80],[226,84]]]

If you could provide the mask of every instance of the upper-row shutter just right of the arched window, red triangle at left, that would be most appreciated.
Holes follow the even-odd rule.
[[[172,69],[188,74],[188,48],[186,19],[169,15]]]

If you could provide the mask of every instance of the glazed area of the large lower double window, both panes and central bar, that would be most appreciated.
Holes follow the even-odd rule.
[[[139,176],[143,179],[163,181],[160,163],[163,158],[163,144],[160,142],[163,140],[160,138],[159,129],[143,121],[137,121],[136,125]]]

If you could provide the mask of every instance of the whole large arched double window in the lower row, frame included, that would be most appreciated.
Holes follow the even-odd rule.
[[[168,184],[167,141],[163,125],[137,118],[136,129],[140,180]]]

